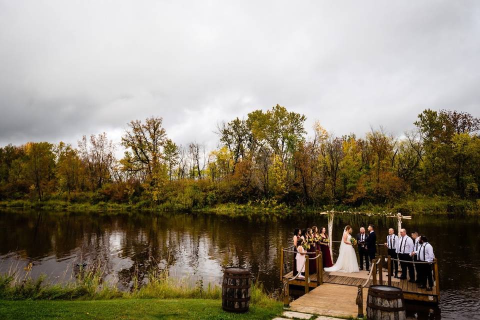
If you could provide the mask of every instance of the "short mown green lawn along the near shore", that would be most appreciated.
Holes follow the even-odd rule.
[[[1,319],[272,319],[280,302],[250,305],[246,313],[221,309],[218,299],[0,300]]]

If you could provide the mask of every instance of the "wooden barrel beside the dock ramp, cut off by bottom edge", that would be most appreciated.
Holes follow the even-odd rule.
[[[390,285],[370,286],[366,300],[366,318],[404,320],[405,300],[401,289]]]

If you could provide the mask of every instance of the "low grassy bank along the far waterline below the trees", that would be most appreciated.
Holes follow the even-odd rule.
[[[66,200],[4,200],[0,201],[0,208],[21,208],[57,211],[176,211],[174,204],[151,205],[148,203],[113,203],[113,202],[70,202]],[[324,205],[287,205],[275,200],[249,201],[247,203],[217,203],[214,205],[192,207],[187,211],[211,212],[216,214],[288,214],[292,212],[315,213],[327,210],[346,212],[401,212],[404,214],[478,214],[480,213],[480,199],[470,200],[448,196],[412,195],[392,203],[368,203],[359,206],[344,204]]]

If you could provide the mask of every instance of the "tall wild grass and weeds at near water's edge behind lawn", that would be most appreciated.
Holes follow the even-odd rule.
[[[221,298],[221,287],[208,283],[203,285],[202,279],[191,284],[188,278],[173,278],[168,274],[168,268],[151,268],[146,283],[140,283],[133,276],[133,286],[130,291],[121,291],[116,283],[103,281],[104,269],[99,262],[80,266],[76,275],[63,283],[50,283],[46,276],[36,279],[31,277],[32,264],[21,269],[11,267],[8,272],[0,275],[0,299],[48,299],[48,300],[97,300],[112,298]],[[168,265],[168,263],[167,263]],[[253,283],[251,287],[251,302],[268,305],[274,299],[263,290],[261,283]]]

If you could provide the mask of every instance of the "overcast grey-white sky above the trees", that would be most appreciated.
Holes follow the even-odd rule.
[[[163,117],[214,147],[276,103],[336,134],[480,116],[480,1],[0,0],[0,145]]]

